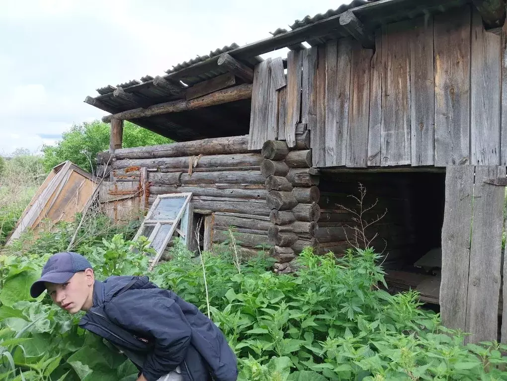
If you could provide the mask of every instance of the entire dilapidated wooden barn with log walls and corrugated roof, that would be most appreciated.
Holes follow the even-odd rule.
[[[467,340],[505,342],[504,23],[504,0],[354,0],[100,88],[86,98],[111,113],[100,172],[144,208],[191,193],[204,248],[234,225],[278,271],[304,247],[350,246],[361,183],[379,200],[365,216],[387,209],[372,244],[392,289],[418,289]],[[124,120],[176,143],[122,148]]]

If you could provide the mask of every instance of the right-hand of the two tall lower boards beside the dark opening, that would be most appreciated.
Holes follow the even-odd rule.
[[[483,182],[495,177],[505,167],[476,166],[465,344],[497,338],[505,187]]]

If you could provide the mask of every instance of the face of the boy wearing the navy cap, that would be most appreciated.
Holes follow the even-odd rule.
[[[48,294],[62,310],[70,314],[88,311],[93,305],[93,270],[74,274],[66,283],[45,282]]]

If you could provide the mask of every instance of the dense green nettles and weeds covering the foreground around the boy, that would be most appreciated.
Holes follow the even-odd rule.
[[[134,230],[125,229],[129,235]],[[5,360],[0,380],[21,379],[21,372],[26,380],[135,380],[128,360],[77,328],[79,316],[66,315],[47,295],[29,297],[31,282],[59,249],[53,242],[60,236],[68,233],[48,233],[44,243],[22,255],[0,259],[0,356]],[[90,259],[99,279],[146,274],[145,254],[153,254],[145,241],[113,233],[83,237],[77,251]],[[149,276],[221,327],[238,356],[242,381],[507,379],[500,370],[507,363],[501,355],[507,346],[463,346],[463,334],[421,309],[416,292],[390,295],[379,289],[384,273],[370,249],[349,250],[340,259],[306,249],[298,258],[297,276],[272,273],[273,260],[264,253],[236,266],[234,253],[226,247],[220,252],[192,258],[176,244],[172,259]]]

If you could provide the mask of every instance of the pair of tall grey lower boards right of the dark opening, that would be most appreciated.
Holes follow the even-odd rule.
[[[472,333],[465,342],[497,339],[505,167],[447,168],[442,227],[440,309],[444,325]]]

